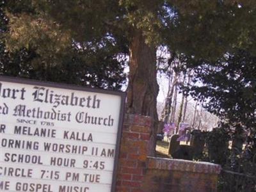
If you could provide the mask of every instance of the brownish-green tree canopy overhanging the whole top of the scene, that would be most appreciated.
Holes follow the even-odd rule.
[[[129,54],[136,31],[143,34],[148,45],[166,45],[188,58],[214,60],[234,47],[252,54],[256,50],[253,1],[3,2],[10,19],[10,33],[4,34],[5,49],[34,52],[31,65],[44,65],[45,70],[61,66],[63,58],[79,60],[87,67],[104,67],[105,61],[95,58],[108,58],[108,62],[112,58],[110,63],[120,63],[116,56]]]

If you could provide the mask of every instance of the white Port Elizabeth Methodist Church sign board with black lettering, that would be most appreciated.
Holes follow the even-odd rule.
[[[124,100],[0,76],[0,191],[115,191]]]

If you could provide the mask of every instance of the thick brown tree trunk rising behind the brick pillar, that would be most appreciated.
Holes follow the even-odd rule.
[[[128,113],[151,116],[154,125],[150,134],[150,156],[154,156],[157,131],[157,93],[156,47],[145,44],[141,31],[134,31],[130,45],[129,84],[127,88]]]

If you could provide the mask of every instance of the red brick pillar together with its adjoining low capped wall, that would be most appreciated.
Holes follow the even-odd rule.
[[[148,157],[151,118],[125,115],[116,192],[216,191],[220,166]]]

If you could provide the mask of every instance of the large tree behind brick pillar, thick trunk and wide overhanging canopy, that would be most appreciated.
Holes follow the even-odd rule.
[[[256,52],[253,1],[25,0],[6,4],[8,49],[33,49],[45,66],[58,61],[70,47],[96,44],[100,48],[109,40],[118,47],[116,54],[129,47],[127,111],[152,116],[155,122],[158,45],[191,58],[216,58],[234,45]]]

